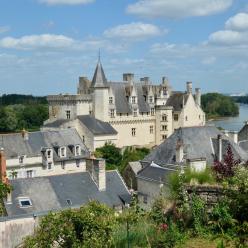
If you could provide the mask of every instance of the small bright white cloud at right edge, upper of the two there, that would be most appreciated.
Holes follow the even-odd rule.
[[[248,31],[248,13],[238,13],[226,21],[226,29]]]

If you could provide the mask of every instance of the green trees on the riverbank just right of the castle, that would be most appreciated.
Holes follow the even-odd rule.
[[[239,114],[239,106],[234,99],[219,93],[207,93],[202,95],[202,108],[211,117],[230,117]]]

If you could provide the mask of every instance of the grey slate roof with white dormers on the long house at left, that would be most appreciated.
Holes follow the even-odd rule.
[[[28,133],[28,140],[24,140],[21,133],[0,135],[0,146],[4,148],[6,158],[41,156],[42,148],[54,148],[55,146],[80,145],[82,156],[88,157],[88,150],[76,129],[63,129],[56,131],[38,131]],[[72,156],[67,149],[67,157]],[[54,151],[56,158],[56,152]]]

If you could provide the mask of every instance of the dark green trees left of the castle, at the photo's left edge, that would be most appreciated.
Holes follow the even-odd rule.
[[[0,132],[17,132],[22,129],[36,131],[48,119],[45,97],[3,95],[0,98]]]

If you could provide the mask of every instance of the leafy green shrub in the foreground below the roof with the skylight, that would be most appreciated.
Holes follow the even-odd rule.
[[[79,210],[64,210],[43,217],[35,234],[25,239],[23,247],[109,247],[114,227],[113,211],[90,202]]]

